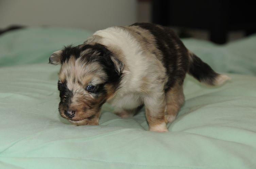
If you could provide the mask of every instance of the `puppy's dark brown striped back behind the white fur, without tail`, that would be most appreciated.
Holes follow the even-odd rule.
[[[152,23],[135,23],[126,29],[145,51],[154,54],[165,67],[168,77],[166,91],[176,82],[183,83],[189,68],[188,50],[173,30]]]

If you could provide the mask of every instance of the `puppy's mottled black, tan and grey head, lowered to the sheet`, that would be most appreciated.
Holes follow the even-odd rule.
[[[49,63],[61,65],[60,115],[72,124],[97,125],[103,103],[118,89],[123,63],[101,44],[64,47]]]

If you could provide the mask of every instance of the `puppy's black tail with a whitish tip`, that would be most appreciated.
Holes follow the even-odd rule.
[[[192,75],[198,81],[217,86],[223,84],[226,80],[231,79],[227,75],[216,73],[212,68],[204,63],[197,55],[189,51],[189,71],[188,74]]]

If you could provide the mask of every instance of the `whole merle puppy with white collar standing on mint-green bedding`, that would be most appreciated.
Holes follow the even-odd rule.
[[[184,103],[186,73],[209,85],[229,77],[189,51],[168,27],[135,23],[96,31],[83,44],[54,52],[61,65],[60,115],[75,125],[98,125],[102,104],[121,117],[145,106],[150,131],[166,132]]]

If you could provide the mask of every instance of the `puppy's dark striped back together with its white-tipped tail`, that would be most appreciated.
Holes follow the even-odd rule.
[[[142,33],[135,31],[139,34],[137,37],[140,37],[140,44],[145,46],[146,50],[154,53],[166,68],[168,81],[165,91],[177,83],[181,85],[187,72],[200,82],[213,86],[230,79],[226,75],[216,73],[197,55],[189,51],[170,28],[151,23],[135,23],[129,27],[141,30]]]

